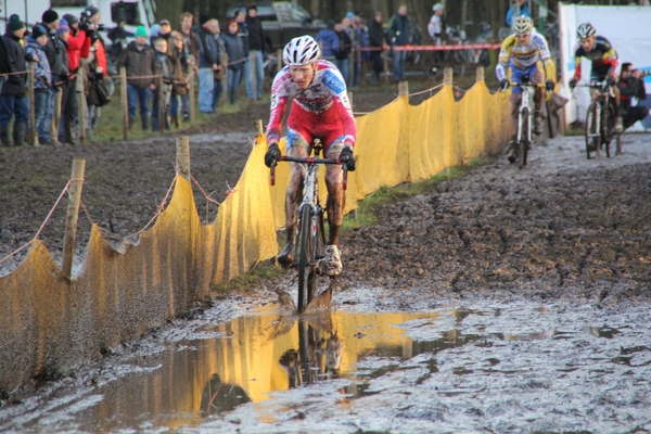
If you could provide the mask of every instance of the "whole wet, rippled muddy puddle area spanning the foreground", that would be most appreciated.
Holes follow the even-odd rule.
[[[265,308],[25,396],[0,409],[0,431],[648,432],[648,307]]]

